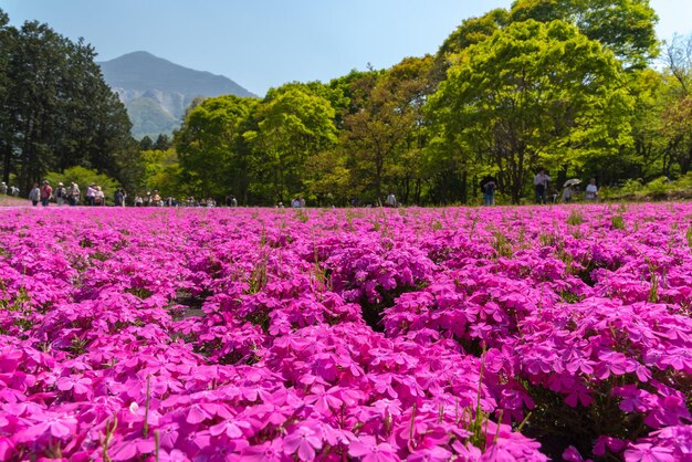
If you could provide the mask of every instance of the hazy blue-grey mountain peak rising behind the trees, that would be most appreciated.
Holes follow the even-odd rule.
[[[125,104],[137,139],[170,135],[198,96],[255,96],[228,77],[184,67],[145,51],[98,64],[104,80]]]

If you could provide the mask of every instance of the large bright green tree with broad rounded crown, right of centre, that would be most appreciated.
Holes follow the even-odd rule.
[[[578,166],[629,143],[626,83],[612,53],[575,27],[530,20],[470,46],[429,114],[447,144],[494,164],[517,203],[539,161]]]

